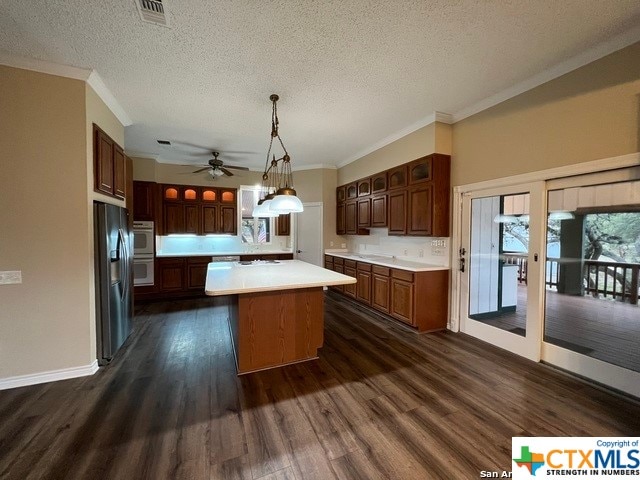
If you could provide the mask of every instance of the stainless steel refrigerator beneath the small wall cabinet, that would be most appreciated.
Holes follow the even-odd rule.
[[[98,364],[106,365],[131,333],[133,244],[126,208],[93,204]]]

